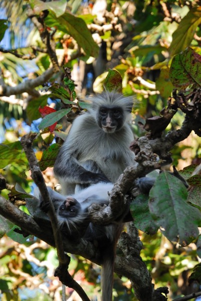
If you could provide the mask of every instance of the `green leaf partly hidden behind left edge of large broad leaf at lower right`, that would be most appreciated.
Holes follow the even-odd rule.
[[[153,235],[157,232],[158,226],[153,221],[149,212],[148,196],[139,195],[130,205],[135,226],[147,234]]]

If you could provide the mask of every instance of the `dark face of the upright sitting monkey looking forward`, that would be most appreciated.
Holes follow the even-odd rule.
[[[124,123],[123,110],[120,107],[100,107],[98,112],[98,125],[106,133],[114,133]]]

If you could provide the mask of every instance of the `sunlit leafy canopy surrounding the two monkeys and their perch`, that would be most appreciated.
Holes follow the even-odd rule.
[[[28,132],[35,132],[29,137],[36,158],[45,182],[54,187],[52,167],[66,138],[65,130],[78,114],[90,107],[83,100],[85,96],[102,91],[103,85],[108,90],[136,95],[139,103],[133,112],[136,140],[132,147],[134,152],[141,150],[142,158],[151,158],[152,165],[147,164],[147,158],[142,164],[138,156],[136,160],[144,169],[127,170],[124,175],[127,185],[149,169],[170,162],[170,158],[177,170],[182,169],[179,174],[189,184],[186,189],[180,180],[163,172],[149,196],[132,196],[134,223],[128,227],[127,239],[135,241],[130,243],[129,250],[122,246],[122,240],[119,242],[124,256],[117,256],[115,270],[123,275],[124,286],[115,279],[114,300],[147,301],[141,292],[153,290],[147,269],[155,284],[150,300],[166,300],[167,290],[163,286],[167,285],[168,300],[192,292],[198,296],[201,178],[199,170],[198,174],[193,173],[200,164],[201,136],[199,1],[2,0],[1,13],[2,300],[35,300],[39,295],[43,300],[61,299],[60,282],[53,276],[58,266],[56,250],[46,244],[54,245],[54,239],[50,239],[49,230],[46,239],[37,224],[32,224],[34,221],[25,206],[26,200],[28,204],[32,202],[28,198],[36,184],[21,141]],[[185,138],[185,143],[181,143]],[[150,153],[144,144],[150,146]],[[153,153],[159,161],[154,161]],[[22,209],[22,224],[21,220],[17,222],[12,203]],[[99,270],[89,261],[95,250],[89,246],[83,251],[81,244],[67,245],[64,244],[64,249],[79,254],[71,257],[69,270],[76,280],[82,280],[84,290],[93,299],[99,295]],[[129,272],[125,260],[129,256],[148,275],[141,283],[136,281],[139,270],[135,266],[131,265],[133,272]],[[134,289],[125,277],[134,283]],[[68,297],[73,298],[74,294],[66,288]]]

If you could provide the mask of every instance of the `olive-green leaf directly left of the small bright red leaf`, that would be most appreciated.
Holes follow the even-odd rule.
[[[47,104],[48,97],[50,97],[50,95],[43,95],[29,101],[27,106],[27,117],[30,122],[41,117],[41,114],[39,112],[39,107],[40,106],[43,107]]]

